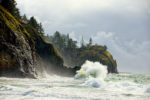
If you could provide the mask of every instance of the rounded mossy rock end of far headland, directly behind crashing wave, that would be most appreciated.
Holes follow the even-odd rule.
[[[105,46],[93,45],[87,47],[85,50],[80,50],[80,63],[79,66],[83,64],[86,60],[98,61],[103,65],[107,65],[109,73],[118,73],[116,60],[113,59],[111,53],[107,50]]]

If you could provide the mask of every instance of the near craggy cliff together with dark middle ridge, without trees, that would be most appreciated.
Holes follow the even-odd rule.
[[[63,68],[55,47],[0,6],[0,76],[36,78],[45,66]]]

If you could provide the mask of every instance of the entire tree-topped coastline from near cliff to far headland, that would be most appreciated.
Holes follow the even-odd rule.
[[[80,45],[69,34],[58,31],[45,36],[42,23],[34,16],[29,19],[25,14],[21,16],[15,0],[0,2],[0,74],[1,69],[9,69],[6,72],[19,71],[32,77],[36,73],[33,69],[42,70],[43,66],[46,70],[59,69],[60,74],[61,71],[75,74],[86,60],[101,62],[108,66],[109,72],[117,73],[117,63],[106,46],[93,45],[92,38],[86,44],[83,37]]]

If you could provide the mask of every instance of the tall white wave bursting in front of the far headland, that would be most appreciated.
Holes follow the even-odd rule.
[[[101,87],[104,79],[107,76],[107,66],[99,62],[86,61],[77,74],[75,79],[85,80],[84,84],[92,87]]]

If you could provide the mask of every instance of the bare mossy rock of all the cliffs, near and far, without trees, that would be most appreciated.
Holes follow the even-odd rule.
[[[68,58],[71,67],[81,66],[86,60],[99,61],[108,66],[110,73],[117,73],[117,63],[105,47],[81,48],[78,53],[75,60]],[[0,76],[36,78],[44,71],[72,76],[79,68],[64,66],[64,60],[53,44],[0,6]]]

